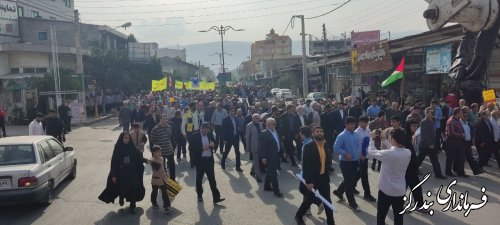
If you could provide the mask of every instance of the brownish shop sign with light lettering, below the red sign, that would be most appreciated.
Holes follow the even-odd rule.
[[[353,73],[370,73],[392,69],[389,43],[382,41],[353,50],[351,63]]]

